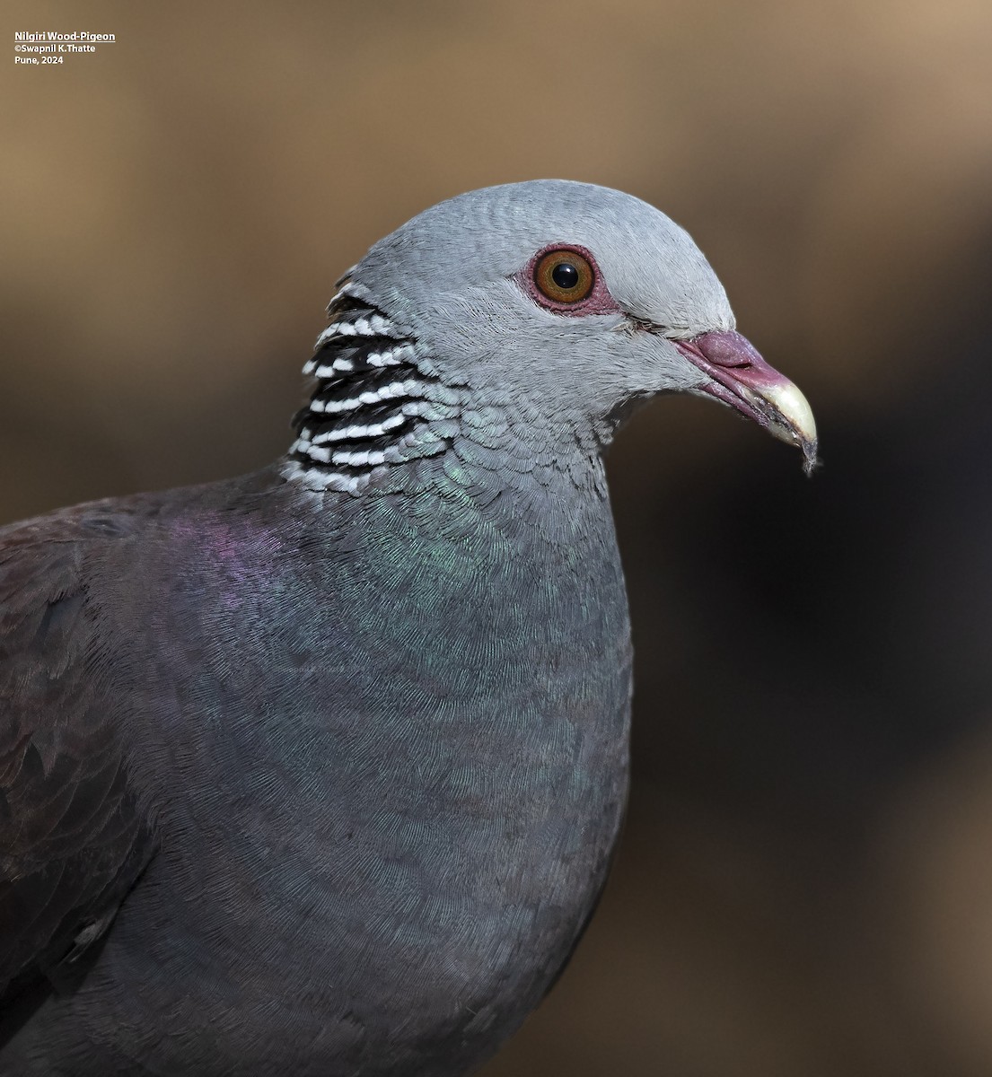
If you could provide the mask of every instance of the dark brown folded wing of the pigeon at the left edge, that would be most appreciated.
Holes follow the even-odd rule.
[[[58,983],[151,854],[85,532],[79,510],[0,530],[0,994]]]

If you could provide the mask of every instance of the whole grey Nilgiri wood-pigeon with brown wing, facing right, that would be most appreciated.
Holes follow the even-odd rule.
[[[569,957],[628,772],[602,452],[715,396],[815,459],[680,227],[563,181],[339,282],[288,456],[0,530],[0,1075],[470,1072]]]

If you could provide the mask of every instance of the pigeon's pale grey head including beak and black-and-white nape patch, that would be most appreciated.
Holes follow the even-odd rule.
[[[735,331],[689,235],[619,191],[539,180],[441,202],[349,270],[329,316],[291,454],[315,489],[360,492],[507,431],[539,457],[595,454],[663,392],[713,396],[815,460],[809,405]]]

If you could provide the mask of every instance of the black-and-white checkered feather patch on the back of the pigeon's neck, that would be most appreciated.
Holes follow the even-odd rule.
[[[287,478],[358,494],[397,466],[444,452],[461,395],[424,372],[420,345],[355,294],[346,276],[304,374],[316,379],[293,420]]]

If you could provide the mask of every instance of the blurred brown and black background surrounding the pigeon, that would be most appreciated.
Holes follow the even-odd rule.
[[[555,176],[686,225],[824,466],[670,400],[611,460],[635,783],[489,1077],[992,1073],[988,0],[9,2],[0,521],[288,446],[338,274]],[[10,50],[10,44],[8,44]]]

